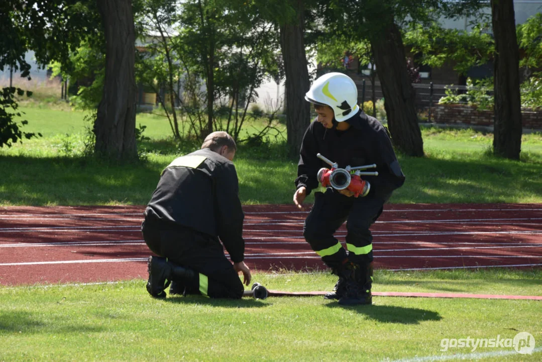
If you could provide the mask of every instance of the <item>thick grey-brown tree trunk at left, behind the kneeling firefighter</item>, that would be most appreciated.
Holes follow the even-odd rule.
[[[95,152],[115,160],[137,158],[135,143],[135,30],[130,0],[98,0],[106,38],[106,69]]]

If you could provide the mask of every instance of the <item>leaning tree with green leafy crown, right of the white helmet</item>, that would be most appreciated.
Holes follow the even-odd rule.
[[[402,40],[403,28],[408,23],[429,23],[440,16],[468,14],[479,7],[480,2],[475,0],[321,1],[319,12],[327,36],[340,35],[349,42],[370,42],[384,93],[392,142],[403,153],[423,156],[414,90]]]

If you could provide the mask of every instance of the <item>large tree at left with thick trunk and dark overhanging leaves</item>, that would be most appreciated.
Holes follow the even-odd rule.
[[[100,16],[101,15],[101,18]],[[5,17],[5,19],[4,19]],[[0,69],[9,66],[29,74],[24,54],[34,51],[43,66],[58,61],[63,71],[81,42],[106,35],[104,95],[94,125],[96,151],[118,160],[137,157],[135,148],[134,24],[130,0],[8,0],[0,8]],[[5,31],[4,31],[5,30]]]

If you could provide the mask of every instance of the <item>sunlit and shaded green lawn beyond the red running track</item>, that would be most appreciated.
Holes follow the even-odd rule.
[[[173,142],[167,120],[139,113],[149,141],[139,144],[145,162],[108,164],[82,155],[85,113],[23,107],[25,131],[44,136],[0,149],[0,205],[143,205],[161,170],[197,148]],[[248,133],[261,128],[249,124]],[[283,129],[283,126],[281,126]],[[246,134],[245,134],[246,135]],[[488,152],[493,136],[473,130],[422,129],[425,157],[399,155],[406,175],[393,203],[542,202],[542,135],[522,139],[521,161]],[[235,158],[243,204],[289,204],[296,160],[275,138],[259,146],[240,145]],[[312,202],[312,195],[307,203]]]

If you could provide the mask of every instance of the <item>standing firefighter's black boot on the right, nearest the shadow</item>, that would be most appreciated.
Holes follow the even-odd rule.
[[[357,306],[372,304],[372,263],[351,263],[345,268],[345,294],[340,297],[341,306]]]

